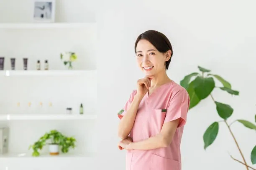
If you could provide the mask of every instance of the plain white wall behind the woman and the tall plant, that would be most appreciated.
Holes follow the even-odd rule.
[[[256,113],[255,2],[170,0],[117,0],[102,2],[98,10],[98,169],[124,169],[125,152],[117,148],[117,112],[128,100],[136,80],[143,75],[136,66],[133,45],[149,29],[169,37],[174,55],[168,75],[176,82],[197,71],[197,65],[223,76],[240,91],[240,96],[215,90],[213,96],[234,108],[228,122],[241,118],[253,121]],[[102,57],[104,55],[104,57]],[[108,89],[108,90],[106,90]],[[110,101],[111,98],[111,101]],[[215,143],[206,151],[202,135],[213,121],[220,120],[214,103],[207,98],[190,110],[182,139],[183,170],[245,169],[229,154],[242,160],[224,124]],[[255,132],[235,123],[232,130],[250,163],[256,144]],[[110,156],[111,154],[111,156]],[[255,166],[254,166],[255,167]]]

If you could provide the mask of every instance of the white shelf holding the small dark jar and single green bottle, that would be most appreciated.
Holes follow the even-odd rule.
[[[0,115],[0,120],[95,120],[97,115],[36,115],[36,114],[7,114]]]

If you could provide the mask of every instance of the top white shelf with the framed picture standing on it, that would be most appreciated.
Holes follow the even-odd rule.
[[[96,23],[0,23],[2,29],[90,28]]]

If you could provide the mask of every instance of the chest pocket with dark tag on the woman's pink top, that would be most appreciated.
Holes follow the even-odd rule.
[[[151,115],[152,135],[160,133],[166,117],[166,109],[154,109]]]

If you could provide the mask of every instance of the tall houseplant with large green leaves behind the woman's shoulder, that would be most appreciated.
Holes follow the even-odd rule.
[[[211,97],[213,103],[216,106],[216,110],[218,112],[218,115],[222,120],[220,121],[214,121],[212,124],[205,130],[205,133],[203,135],[203,140],[204,140],[204,149],[206,150],[207,147],[212,145],[214,140],[216,139],[219,131],[219,123],[225,123],[227,126],[233,140],[236,143],[236,146],[238,148],[239,153],[241,154],[242,161],[237,160],[236,158],[233,158],[233,156],[230,155],[230,157],[233,160],[236,160],[237,162],[243,164],[246,166],[246,169],[248,170],[249,168],[256,170],[255,168],[252,168],[251,166],[248,165],[246,162],[243,153],[241,151],[241,148],[238,145],[238,142],[233,134],[233,131],[231,129],[231,125],[234,122],[239,122],[244,125],[244,127],[249,128],[251,130],[256,130],[256,115],[253,117],[253,122],[250,122],[248,120],[235,120],[231,122],[230,124],[228,123],[228,118],[233,114],[233,108],[225,103],[222,103],[218,100],[215,100],[212,96],[212,92],[215,88],[219,88],[220,90],[223,90],[224,92],[229,93],[230,95],[239,95],[239,92],[236,90],[233,90],[231,87],[231,84],[224,80],[223,77],[220,75],[216,74],[211,74],[211,70],[205,69],[203,67],[198,66],[199,71],[198,72],[192,72],[188,75],[186,75],[183,80],[180,81],[180,85],[184,87],[187,92],[189,93],[190,97],[190,106],[189,110],[195,107],[200,103],[201,100],[204,100],[208,96]],[[216,87],[215,86],[215,80],[218,80],[221,82],[223,87]],[[256,145],[252,148],[251,150],[251,163],[254,165],[256,164]]]

